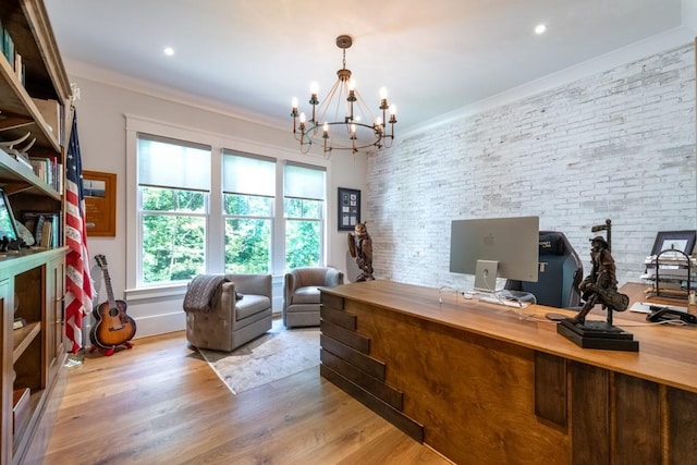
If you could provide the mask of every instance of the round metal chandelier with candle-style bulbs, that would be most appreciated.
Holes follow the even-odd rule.
[[[337,71],[338,79],[321,105],[317,99],[317,83],[310,85],[309,105],[313,112],[309,120],[304,112],[298,113],[297,98],[293,98],[293,134],[301,143],[303,154],[307,154],[313,144],[321,145],[325,154],[332,150],[356,152],[371,146],[380,149],[392,145],[396,108],[388,105],[387,89],[382,87],[378,107],[382,115],[372,115],[356,89],[351,70],[346,70],[346,49],[352,42],[351,36],[337,37],[337,47],[343,50],[343,68]]]

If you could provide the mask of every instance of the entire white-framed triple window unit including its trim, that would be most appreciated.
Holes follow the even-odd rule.
[[[329,161],[304,160],[127,115],[129,295],[180,295],[201,273],[271,273],[278,284],[289,268],[323,265]]]

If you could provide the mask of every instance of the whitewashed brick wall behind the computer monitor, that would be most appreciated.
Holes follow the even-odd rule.
[[[658,231],[697,228],[694,52],[667,50],[371,155],[376,277],[470,287],[449,271],[451,220],[536,215],[586,271],[590,228],[611,219],[617,279],[639,281]]]

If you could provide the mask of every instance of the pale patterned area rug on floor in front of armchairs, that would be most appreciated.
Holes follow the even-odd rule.
[[[274,318],[269,332],[233,352],[199,352],[236,395],[319,365],[319,328],[286,329]]]

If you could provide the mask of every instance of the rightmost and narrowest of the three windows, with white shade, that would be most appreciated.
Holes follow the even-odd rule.
[[[322,264],[325,184],[323,169],[290,162],[284,167],[286,269]]]

